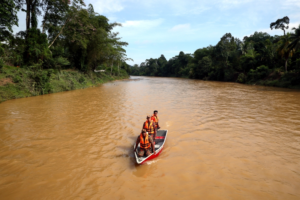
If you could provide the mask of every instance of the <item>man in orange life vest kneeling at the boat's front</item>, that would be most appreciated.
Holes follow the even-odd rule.
[[[137,152],[137,146],[140,143],[140,150]],[[150,156],[151,153],[155,153],[155,148],[153,144],[152,137],[146,132],[146,129],[142,129],[141,134],[137,137],[137,142],[135,144],[134,152],[137,153],[138,157],[144,156]]]

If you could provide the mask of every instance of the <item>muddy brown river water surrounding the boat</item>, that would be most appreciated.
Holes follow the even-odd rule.
[[[299,90],[163,77],[9,100],[0,197],[300,199],[299,100]],[[167,140],[137,165],[154,110]]]

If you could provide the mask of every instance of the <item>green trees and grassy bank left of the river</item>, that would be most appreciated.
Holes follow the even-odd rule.
[[[26,19],[18,19],[18,11],[26,12]],[[26,30],[13,34],[19,23],[26,24]],[[109,23],[82,0],[1,1],[2,100],[22,97],[22,90],[30,91],[25,96],[39,95],[128,77],[131,68],[123,48],[128,43],[113,32],[117,26],[122,24]],[[55,87],[55,81],[63,80],[65,86]]]

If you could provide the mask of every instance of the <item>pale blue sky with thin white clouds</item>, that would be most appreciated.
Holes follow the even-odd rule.
[[[123,24],[114,31],[129,43],[125,50],[134,59],[130,65],[161,54],[170,59],[180,51],[193,53],[217,44],[227,32],[240,39],[255,31],[282,35],[282,30],[269,27],[284,16],[290,19],[290,29],[300,23],[299,0],[85,0],[89,3],[110,22]],[[25,29],[25,13],[19,20],[16,32]]]

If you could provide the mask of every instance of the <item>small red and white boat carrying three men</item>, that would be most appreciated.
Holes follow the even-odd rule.
[[[137,160],[137,164],[142,165],[145,161],[154,159],[161,153],[161,150],[163,150],[163,147],[164,147],[164,144],[165,144],[165,141],[167,138],[167,133],[168,133],[168,130],[158,130],[157,131],[156,138],[155,138],[155,145],[154,145],[155,153],[152,153],[149,156],[143,156],[143,157],[139,158],[139,157],[137,157],[137,153],[134,152],[135,158]],[[134,148],[135,148],[135,145],[136,144],[134,144]],[[140,144],[138,144],[138,146],[137,146],[137,152],[139,150],[140,150]]]

